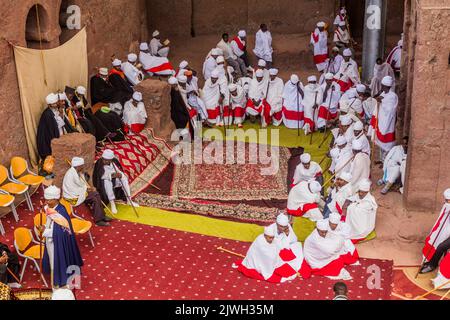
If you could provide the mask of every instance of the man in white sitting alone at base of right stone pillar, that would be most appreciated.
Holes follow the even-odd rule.
[[[383,190],[381,190],[383,195],[386,195],[396,182],[401,182],[403,189],[408,156],[408,140],[408,137],[404,137],[403,143],[393,147],[384,159],[383,178],[378,181],[379,186],[384,185]]]

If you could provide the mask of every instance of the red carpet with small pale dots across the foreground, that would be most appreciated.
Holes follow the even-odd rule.
[[[86,212],[81,212],[86,216]],[[4,220],[12,245],[13,229],[31,226],[32,214],[20,208],[21,222]],[[85,266],[78,299],[330,299],[334,281],[325,278],[297,280],[273,285],[244,278],[231,268],[237,258],[216,250],[222,246],[244,253],[249,243],[211,238],[128,222],[113,222],[112,228],[95,228],[93,249],[87,237],[79,244]],[[369,290],[366,269],[382,270],[380,290]],[[348,269],[354,280],[347,282],[352,299],[390,299],[392,262],[363,260],[362,266]],[[39,286],[39,276],[27,267],[25,288]]]

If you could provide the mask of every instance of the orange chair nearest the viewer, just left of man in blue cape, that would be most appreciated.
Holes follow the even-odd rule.
[[[36,245],[33,245],[33,243],[36,243]],[[16,248],[17,254],[25,259],[22,272],[20,273],[20,282],[22,282],[28,260],[31,260],[37,271],[41,274],[45,286],[48,287],[47,281],[45,281],[44,275],[39,268],[39,264],[37,263],[37,260],[42,259],[44,255],[44,245],[40,245],[39,242],[33,239],[31,230],[27,228],[17,228],[14,230],[14,247]]]

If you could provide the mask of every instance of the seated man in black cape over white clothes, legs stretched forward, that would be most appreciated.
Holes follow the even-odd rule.
[[[122,165],[115,158],[114,151],[106,149],[95,163],[94,186],[105,204],[111,204],[111,211],[117,214],[116,199],[127,201],[133,207],[139,207],[131,201],[131,189],[128,177],[123,173]]]

